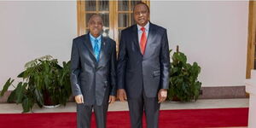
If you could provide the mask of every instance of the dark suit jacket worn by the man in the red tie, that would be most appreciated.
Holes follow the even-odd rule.
[[[137,25],[121,32],[117,66],[118,89],[125,89],[128,98],[156,97],[160,89],[169,86],[169,45],[166,29],[149,24],[145,54],[142,55]]]

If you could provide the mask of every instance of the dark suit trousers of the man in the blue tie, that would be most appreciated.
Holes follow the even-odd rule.
[[[106,91],[102,105],[77,104],[77,127],[90,128],[92,109],[96,117],[96,127],[106,128],[109,91]]]

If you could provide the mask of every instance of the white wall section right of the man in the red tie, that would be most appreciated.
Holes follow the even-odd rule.
[[[243,85],[248,2],[152,1],[151,21],[167,28],[172,49],[201,66],[203,86]]]

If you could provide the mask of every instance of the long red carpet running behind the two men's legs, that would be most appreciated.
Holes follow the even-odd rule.
[[[248,108],[162,110],[160,128],[247,126],[247,117]],[[75,120],[76,113],[8,113],[0,114],[0,128],[75,128]],[[108,112],[108,128],[130,127],[128,111]]]

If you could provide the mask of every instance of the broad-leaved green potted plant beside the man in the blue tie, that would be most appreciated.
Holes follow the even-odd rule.
[[[25,71],[18,75],[23,81],[14,85],[14,79],[8,79],[0,96],[13,85],[15,90],[11,92],[7,102],[21,103],[23,113],[32,111],[35,103],[40,108],[66,105],[71,96],[70,61],[63,61],[62,64],[63,67],[50,55],[27,62]]]

